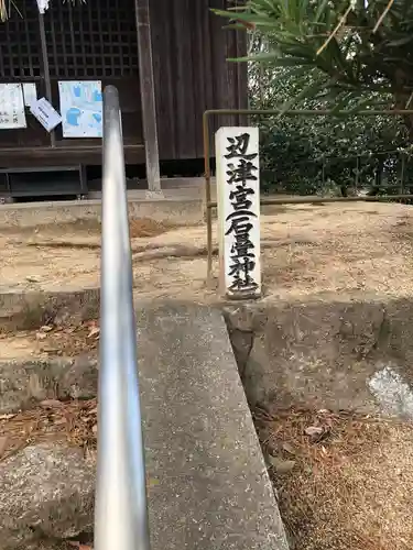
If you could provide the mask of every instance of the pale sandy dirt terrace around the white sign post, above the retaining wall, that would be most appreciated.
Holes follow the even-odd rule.
[[[135,293],[215,300],[206,286],[206,228],[132,224]],[[264,300],[325,292],[410,296],[413,208],[395,204],[280,207],[262,216]],[[216,246],[216,226],[214,227]],[[0,292],[70,290],[99,284],[100,228],[40,227],[0,235]],[[218,275],[215,256],[214,275]]]

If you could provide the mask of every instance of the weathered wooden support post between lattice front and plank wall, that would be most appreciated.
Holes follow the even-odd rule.
[[[145,142],[149,193],[161,195],[160,155],[156,130],[155,84],[153,76],[149,0],[134,0],[137,14],[139,78],[141,84],[142,123]]]

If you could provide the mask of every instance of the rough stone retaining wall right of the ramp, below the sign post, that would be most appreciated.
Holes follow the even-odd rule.
[[[413,418],[413,301],[226,307],[252,408],[314,406]]]

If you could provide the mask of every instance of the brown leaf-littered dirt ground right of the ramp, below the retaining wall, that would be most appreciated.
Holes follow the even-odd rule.
[[[258,413],[291,550],[413,548],[413,426],[328,410]]]

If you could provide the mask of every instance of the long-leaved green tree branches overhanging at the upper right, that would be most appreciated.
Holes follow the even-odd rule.
[[[252,25],[267,38],[268,50],[254,61],[312,74],[294,101],[324,98],[337,108],[356,99],[357,107],[383,107],[391,97],[404,109],[413,90],[413,2],[390,3],[249,0],[237,8],[236,26]],[[235,20],[233,11],[216,13]]]

